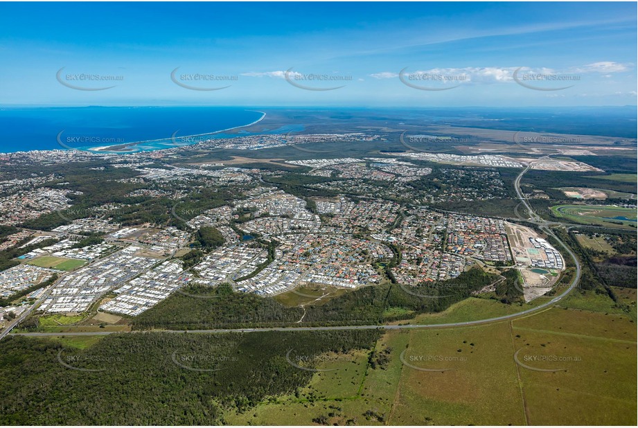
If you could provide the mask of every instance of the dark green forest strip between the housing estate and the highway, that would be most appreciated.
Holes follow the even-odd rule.
[[[265,326],[375,325],[414,316],[414,312],[438,312],[471,296],[497,280],[475,268],[452,280],[424,283],[418,287],[375,285],[362,287],[333,298],[324,305],[303,309],[285,307],[273,298],[232,292],[229,285],[188,287],[175,293],[132,321],[136,330],[168,328],[197,330],[209,328],[252,328]],[[438,296],[438,298],[432,298]],[[402,314],[387,315],[391,308]],[[412,315],[410,315],[412,314]],[[303,316],[303,321],[297,323]]]

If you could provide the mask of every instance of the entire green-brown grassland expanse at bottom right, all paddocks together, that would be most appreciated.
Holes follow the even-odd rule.
[[[616,290],[619,297],[635,301],[635,290],[625,290]],[[383,364],[366,365],[366,353],[356,351],[352,355],[358,355],[360,364],[321,364],[319,368],[339,367],[339,371],[315,373],[298,394],[267,400],[245,413],[227,414],[226,421],[635,425],[635,323],[622,310],[612,312],[614,302],[606,295],[574,292],[568,302],[569,307],[590,310],[553,307],[483,326],[385,332],[371,357],[374,361],[375,355],[387,355]],[[437,320],[463,321],[472,311],[474,318],[508,313],[501,305],[470,298],[437,314]],[[518,361],[531,368],[517,363],[517,351]]]

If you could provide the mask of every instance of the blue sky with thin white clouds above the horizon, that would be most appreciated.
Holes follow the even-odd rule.
[[[636,3],[0,3],[0,105],[636,105],[636,16]]]

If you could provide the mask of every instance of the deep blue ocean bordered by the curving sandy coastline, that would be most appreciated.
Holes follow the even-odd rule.
[[[258,121],[243,107],[30,107],[0,109],[0,152],[98,148],[140,143],[137,150],[170,148],[186,136]],[[184,139],[184,140],[182,140]]]

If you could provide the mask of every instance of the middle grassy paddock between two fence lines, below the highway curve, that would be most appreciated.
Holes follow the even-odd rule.
[[[414,331],[405,355],[447,371],[404,364],[391,425],[524,425],[508,323]]]

